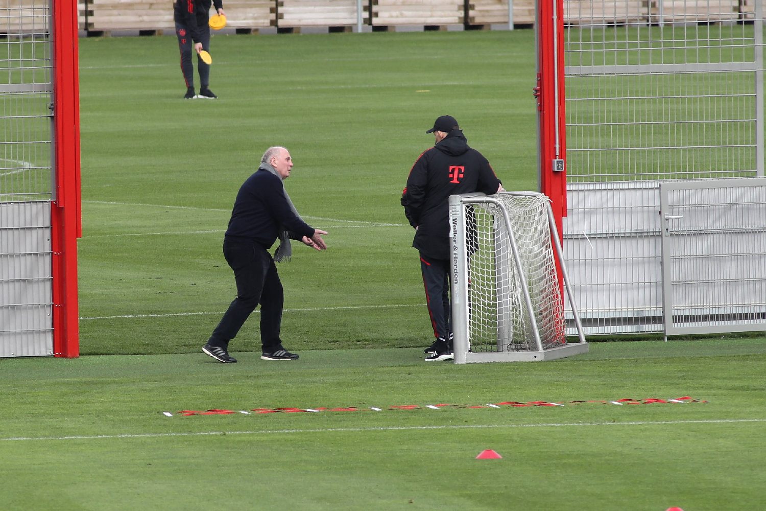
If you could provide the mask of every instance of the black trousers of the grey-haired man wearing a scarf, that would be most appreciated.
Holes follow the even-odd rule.
[[[277,266],[268,251],[254,241],[224,240],[224,257],[237,283],[237,298],[231,302],[208,340],[211,346],[228,349],[242,325],[260,303],[260,343],[264,352],[280,346],[284,293]]]

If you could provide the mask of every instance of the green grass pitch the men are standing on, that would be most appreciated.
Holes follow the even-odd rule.
[[[537,188],[533,45],[532,31],[215,35],[220,99],[185,101],[175,38],[81,39],[83,356],[0,360],[0,509],[766,509],[760,334],[423,362],[401,188],[445,113],[506,188]],[[279,268],[301,359],[258,359],[255,314],[222,365],[200,352],[234,296],[222,236],[275,144],[329,250],[296,246]],[[707,402],[568,402],[682,396]],[[502,401],[565,406],[486,406]],[[177,413],[284,407],[364,411]]]

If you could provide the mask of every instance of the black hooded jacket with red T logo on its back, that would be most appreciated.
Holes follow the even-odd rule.
[[[497,192],[500,181],[460,129],[421,154],[401,194],[404,215],[417,228],[412,246],[434,259],[450,259],[450,195]]]

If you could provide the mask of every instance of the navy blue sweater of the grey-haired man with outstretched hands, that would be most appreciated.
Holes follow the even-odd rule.
[[[226,237],[255,241],[270,248],[279,237],[280,226],[290,231],[290,237],[296,240],[314,234],[314,229],[290,209],[282,180],[267,170],[258,169],[237,193]]]

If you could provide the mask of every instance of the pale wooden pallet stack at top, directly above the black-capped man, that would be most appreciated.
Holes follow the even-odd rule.
[[[373,27],[463,25],[463,0],[372,0]]]

